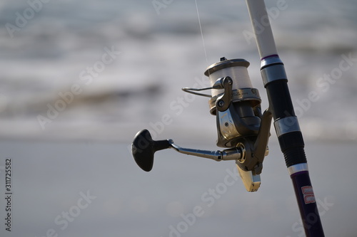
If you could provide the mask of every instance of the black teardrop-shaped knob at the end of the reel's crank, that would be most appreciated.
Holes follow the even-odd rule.
[[[154,141],[148,130],[141,130],[134,137],[131,153],[136,164],[144,171],[149,172],[154,165],[154,153],[170,147],[169,140]]]

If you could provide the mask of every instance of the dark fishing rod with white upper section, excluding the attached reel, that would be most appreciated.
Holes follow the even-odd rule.
[[[263,0],[246,0],[256,44],[261,56],[261,77],[268,95],[269,110],[293,182],[306,236],[324,236],[315,195],[308,174],[303,136],[288,90],[288,79],[276,44]],[[258,25],[262,26],[263,30]]]

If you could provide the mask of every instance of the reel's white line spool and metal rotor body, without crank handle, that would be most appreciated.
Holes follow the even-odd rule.
[[[216,115],[218,147],[235,147],[241,138],[258,135],[261,98],[251,85],[248,65],[244,59],[221,58],[205,72],[213,88],[218,80],[223,84],[223,90],[211,90],[208,101],[211,115]]]

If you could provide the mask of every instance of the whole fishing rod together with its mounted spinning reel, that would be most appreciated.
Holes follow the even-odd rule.
[[[260,95],[253,88],[248,75],[248,61],[223,57],[218,63],[208,66],[204,73],[211,87],[182,90],[210,98],[210,112],[216,116],[216,144],[225,149],[208,151],[183,148],[172,139],[154,141],[149,130],[141,130],[134,137],[132,154],[136,164],[146,172],[153,167],[154,153],[168,148],[216,161],[234,160],[246,190],[257,191],[261,186],[263,159],[268,155],[268,138],[273,120],[306,236],[323,237],[303,136],[293,110],[286,71],[276,51],[266,6],[263,0],[246,0],[246,3],[261,57],[261,77],[268,95],[268,109],[261,112]],[[203,90],[211,90],[211,95],[201,93]]]

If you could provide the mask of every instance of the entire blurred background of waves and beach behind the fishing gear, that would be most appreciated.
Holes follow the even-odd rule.
[[[326,236],[357,236],[356,3],[266,6]],[[234,164],[164,151],[147,174],[130,154],[143,128],[155,139],[216,149],[207,99],[181,88],[208,85],[203,72],[223,56],[251,63],[268,107],[245,1],[6,0],[0,22],[0,190],[7,157],[14,172],[13,231],[1,226],[1,236],[51,228],[59,236],[301,236],[274,131],[261,190],[248,194],[238,180],[184,233],[170,226],[194,206],[206,208],[201,195]],[[87,190],[97,198],[61,230],[56,216]]]

